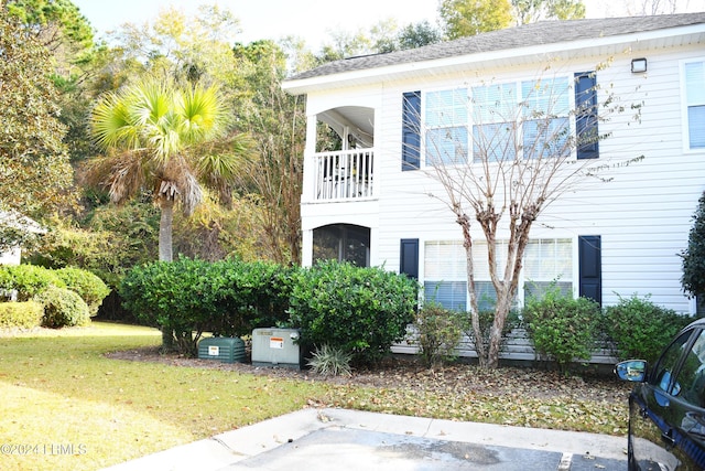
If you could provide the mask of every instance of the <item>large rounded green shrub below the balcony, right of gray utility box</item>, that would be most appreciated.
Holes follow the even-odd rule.
[[[324,261],[294,274],[290,322],[304,349],[328,345],[373,363],[403,339],[417,307],[417,283],[405,275]]]

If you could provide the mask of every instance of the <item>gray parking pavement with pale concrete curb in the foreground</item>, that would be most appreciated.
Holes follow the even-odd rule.
[[[106,470],[621,471],[626,450],[623,437],[308,408]]]

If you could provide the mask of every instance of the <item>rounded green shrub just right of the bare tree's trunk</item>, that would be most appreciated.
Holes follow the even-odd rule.
[[[592,357],[600,320],[600,307],[588,298],[573,299],[557,290],[530,299],[523,309],[529,339],[536,353],[566,370],[574,361]]]

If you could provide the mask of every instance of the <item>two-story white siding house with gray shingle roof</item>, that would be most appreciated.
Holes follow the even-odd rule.
[[[352,57],[291,77],[284,88],[306,95],[308,119],[304,265],[337,257],[383,266],[416,276],[426,295],[446,306],[465,308],[463,235],[443,197],[430,196],[444,194],[430,176],[430,142],[434,132],[453,132],[471,153],[479,125],[470,104],[525,100],[523,90],[549,75],[565,84],[556,94],[565,94],[572,108],[579,105],[581,77],[596,85],[597,103],[614,94],[623,104],[623,113],[596,125],[607,138],[573,149],[573,159],[610,167],[643,159],[610,169],[608,182],[579,186],[541,213],[518,301],[529,281],[558,280],[603,306],[637,293],[694,313],[696,303],[681,287],[679,253],[705,191],[705,13],[540,22]],[[458,94],[470,99],[456,99]],[[438,116],[452,116],[453,125]],[[562,119],[573,132],[586,126],[572,114]],[[338,133],[340,150],[316,141],[318,122]],[[484,240],[477,224],[473,235]],[[478,250],[480,289],[489,287],[482,257]]]

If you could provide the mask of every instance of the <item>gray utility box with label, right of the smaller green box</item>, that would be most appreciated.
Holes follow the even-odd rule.
[[[299,329],[254,329],[252,331],[252,365],[301,370],[303,356],[297,341]]]

